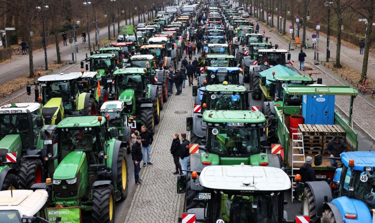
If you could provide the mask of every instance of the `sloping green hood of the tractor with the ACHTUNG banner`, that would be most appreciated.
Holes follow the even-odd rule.
[[[86,153],[72,151],[62,159],[53,173],[53,179],[72,179],[76,177],[78,169],[85,160]]]

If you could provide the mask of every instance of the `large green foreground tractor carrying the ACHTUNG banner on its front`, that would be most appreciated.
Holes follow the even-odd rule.
[[[114,222],[115,201],[128,191],[127,145],[105,123],[103,116],[73,116],[57,124],[58,165],[52,183],[38,185],[50,192],[49,207],[92,211],[92,222]]]

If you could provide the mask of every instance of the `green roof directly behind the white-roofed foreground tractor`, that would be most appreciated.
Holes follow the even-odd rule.
[[[260,111],[252,110],[205,110],[203,112],[203,121],[214,123],[259,123],[265,122],[265,117]]]

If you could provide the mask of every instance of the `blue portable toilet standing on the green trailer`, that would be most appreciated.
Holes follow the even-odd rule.
[[[334,95],[303,95],[302,115],[305,124],[333,124]]]

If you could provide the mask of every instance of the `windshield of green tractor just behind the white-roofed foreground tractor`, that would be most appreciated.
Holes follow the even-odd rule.
[[[210,150],[228,156],[248,156],[259,152],[258,128],[211,128],[208,131]]]

